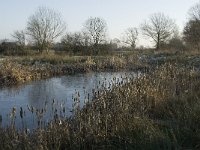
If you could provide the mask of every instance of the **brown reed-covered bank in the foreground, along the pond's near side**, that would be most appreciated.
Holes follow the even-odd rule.
[[[0,129],[0,149],[199,149],[199,87],[198,70],[165,63],[46,129]]]

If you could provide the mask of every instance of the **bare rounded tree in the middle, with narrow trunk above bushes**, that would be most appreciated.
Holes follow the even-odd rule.
[[[84,27],[95,46],[104,40],[107,29],[107,25],[104,19],[99,17],[91,17],[86,20]]]

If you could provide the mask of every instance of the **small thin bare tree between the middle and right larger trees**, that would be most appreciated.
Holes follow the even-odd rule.
[[[132,49],[135,49],[136,46],[136,40],[137,40],[137,36],[138,36],[138,30],[137,28],[128,28],[125,31],[125,35],[124,35],[124,40],[123,42],[127,45],[130,45]]]

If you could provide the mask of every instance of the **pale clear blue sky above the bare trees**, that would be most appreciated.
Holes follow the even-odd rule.
[[[89,17],[102,17],[110,38],[120,38],[128,27],[139,27],[152,13],[163,12],[182,30],[191,6],[199,0],[0,0],[0,39],[25,29],[28,17],[39,6],[61,13],[69,32],[80,31]],[[140,44],[147,44],[140,39]]]

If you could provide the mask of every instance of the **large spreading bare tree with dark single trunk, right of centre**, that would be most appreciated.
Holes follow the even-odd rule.
[[[159,49],[160,44],[169,40],[177,28],[172,19],[163,13],[155,13],[150,17],[149,22],[141,25],[141,29],[145,36],[155,42],[156,49]]]

